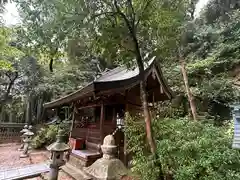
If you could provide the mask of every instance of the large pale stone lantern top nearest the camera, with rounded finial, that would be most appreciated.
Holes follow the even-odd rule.
[[[113,135],[107,135],[104,138],[101,149],[103,157],[95,161],[91,166],[84,168],[84,171],[99,180],[120,180],[127,175],[127,168],[122,161],[115,157],[117,146]]]

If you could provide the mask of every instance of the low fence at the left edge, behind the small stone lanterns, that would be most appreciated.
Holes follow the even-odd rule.
[[[25,124],[0,123],[0,143],[20,142],[20,131]]]

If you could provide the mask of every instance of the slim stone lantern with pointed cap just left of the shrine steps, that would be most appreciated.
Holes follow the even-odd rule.
[[[63,130],[59,130],[57,141],[47,147],[47,150],[51,152],[49,180],[58,179],[59,167],[65,164],[64,152],[70,149],[70,146],[64,143],[63,137]]]

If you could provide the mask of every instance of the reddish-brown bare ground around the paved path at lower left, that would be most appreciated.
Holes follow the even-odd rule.
[[[20,144],[17,143],[0,144],[0,170],[42,163],[50,157],[49,152],[46,150],[32,150],[28,158],[20,158],[21,152],[18,151],[19,147]],[[59,173],[59,179],[73,180],[62,171]],[[31,180],[42,180],[42,178],[31,178]]]

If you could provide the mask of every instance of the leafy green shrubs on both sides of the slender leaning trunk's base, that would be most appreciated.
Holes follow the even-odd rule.
[[[131,137],[129,150],[134,154],[132,170],[141,179],[156,179],[157,167],[144,150],[144,123],[136,125],[136,120],[128,118],[126,130]],[[172,175],[176,180],[240,179],[240,154],[231,148],[232,124],[216,127],[209,121],[166,118],[154,120],[153,127],[165,177]]]

